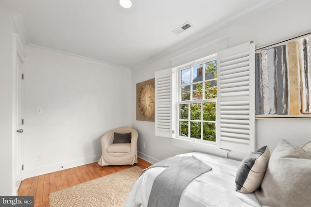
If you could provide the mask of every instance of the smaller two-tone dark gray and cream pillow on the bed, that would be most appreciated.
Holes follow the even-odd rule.
[[[258,189],[268,168],[270,150],[263,146],[244,158],[235,177],[236,191],[251,193]]]

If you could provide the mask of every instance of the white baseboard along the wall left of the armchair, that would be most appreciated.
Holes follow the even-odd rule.
[[[97,162],[100,157],[101,155],[98,155],[98,156],[93,156],[93,157],[84,158],[84,159],[76,159],[76,160],[71,160],[68,162],[61,162],[58,164],[47,165],[47,166],[38,167],[34,169],[29,169],[29,170],[25,169],[23,172],[23,178],[26,179],[29,177],[44,175],[44,174],[53,173],[56,171],[66,170],[72,167],[78,167],[81,165]]]

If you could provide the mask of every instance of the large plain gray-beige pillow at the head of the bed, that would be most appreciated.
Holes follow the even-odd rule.
[[[255,194],[261,206],[310,207],[311,156],[282,140],[271,155],[260,187]]]

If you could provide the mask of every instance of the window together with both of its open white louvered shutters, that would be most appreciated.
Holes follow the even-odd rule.
[[[155,135],[254,151],[255,43],[155,72]]]

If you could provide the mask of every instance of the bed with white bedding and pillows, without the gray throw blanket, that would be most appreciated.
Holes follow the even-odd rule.
[[[303,149],[282,140],[271,156],[269,148],[265,146],[242,161],[200,152],[175,157],[195,157],[212,168],[187,185],[176,206],[309,207],[311,204],[309,147]],[[148,205],[148,201],[152,197],[150,192],[153,191],[156,177],[166,169],[167,167],[155,166],[139,176],[125,207],[158,206],[154,203]],[[241,180],[242,183],[239,183]]]

